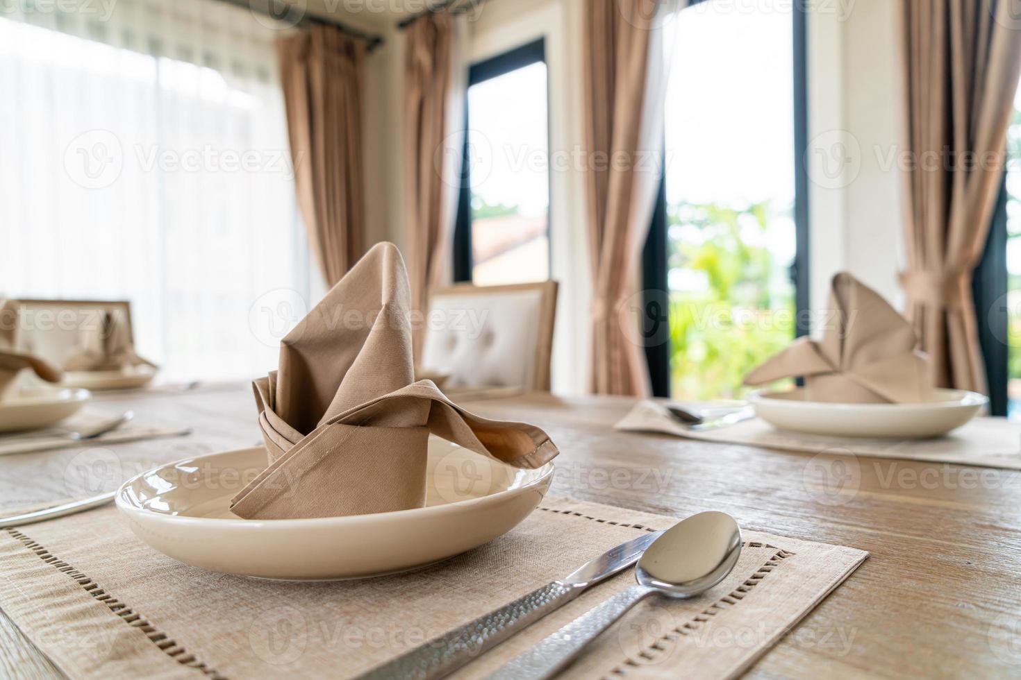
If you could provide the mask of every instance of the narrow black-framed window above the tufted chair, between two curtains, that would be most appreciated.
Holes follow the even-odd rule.
[[[472,66],[454,277],[479,285],[549,278],[543,42]]]

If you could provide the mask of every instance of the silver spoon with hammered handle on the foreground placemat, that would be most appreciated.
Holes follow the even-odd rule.
[[[589,610],[489,680],[543,680],[562,671],[617,619],[645,597],[694,597],[726,578],[741,554],[741,531],[725,513],[700,513],[657,538],[635,568],[638,585]]]

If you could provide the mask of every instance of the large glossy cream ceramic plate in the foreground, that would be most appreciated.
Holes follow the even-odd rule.
[[[142,540],[181,562],[287,580],[380,576],[500,536],[542,501],[553,465],[519,470],[429,439],[426,507],[375,515],[245,520],[230,500],[266,465],[261,448],[172,463],[126,482],[116,504]]]

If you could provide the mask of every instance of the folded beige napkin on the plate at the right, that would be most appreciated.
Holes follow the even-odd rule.
[[[799,337],[748,373],[744,383],[805,378],[813,402],[917,403],[932,394],[928,358],[911,324],[848,273],[833,277],[822,341]]]

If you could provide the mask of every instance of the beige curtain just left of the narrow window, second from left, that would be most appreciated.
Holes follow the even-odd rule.
[[[412,311],[424,314],[432,289],[450,279],[460,185],[464,16],[428,13],[405,31],[404,214]],[[414,326],[416,360],[424,327]]]

